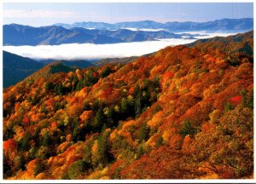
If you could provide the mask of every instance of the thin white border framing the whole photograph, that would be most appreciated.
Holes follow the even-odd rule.
[[[255,159],[256,159],[256,152],[255,152],[255,135],[256,135],[256,129],[255,129],[255,118],[254,118],[254,129],[253,129],[253,147],[254,147],[254,179],[247,179],[247,180],[3,180],[3,3],[253,3],[253,1],[236,1],[236,0],[215,0],[215,1],[183,1],[183,0],[176,0],[176,1],[170,1],[170,0],[137,0],[137,1],[131,1],[131,0],[112,0],[112,1],[102,1],[102,0],[74,0],[71,2],[71,0],[2,0],[0,3],[0,44],[2,45],[2,52],[0,54],[1,62],[0,62],[0,75],[1,75],[1,85],[0,85],[0,117],[1,117],[1,125],[0,125],[0,181],[1,183],[256,183],[256,165],[255,165]],[[256,3],[253,3],[253,25],[255,28],[255,5]],[[255,40],[253,36],[253,43],[255,46]],[[254,50],[254,49],[253,49]],[[254,59],[254,57],[253,57]],[[255,77],[256,69],[255,66],[253,66],[253,79],[256,80]],[[254,89],[254,96],[256,92]],[[255,104],[255,97],[254,97],[254,104]],[[253,108],[254,114],[256,112],[255,106]],[[254,115],[253,114],[253,115]]]

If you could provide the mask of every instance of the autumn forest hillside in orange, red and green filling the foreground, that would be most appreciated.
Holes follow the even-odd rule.
[[[253,178],[253,32],[45,66],[3,90],[3,140],[5,179]]]

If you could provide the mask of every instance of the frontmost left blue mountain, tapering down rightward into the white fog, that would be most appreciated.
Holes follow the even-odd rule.
[[[76,32],[61,26],[3,26],[3,45],[53,45],[61,43],[118,43],[112,37],[96,37],[86,32]]]

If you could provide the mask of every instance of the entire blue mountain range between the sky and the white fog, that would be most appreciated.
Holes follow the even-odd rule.
[[[91,29],[93,28],[93,29]],[[136,31],[128,28],[138,29]],[[139,30],[142,29],[142,30]],[[148,30],[143,30],[148,29]],[[157,29],[157,30],[152,30]],[[253,19],[224,19],[210,22],[167,22],[150,20],[120,22],[81,22],[72,25],[3,26],[3,45],[59,45],[63,43],[131,43],[163,38],[190,38],[198,34],[173,32],[245,32],[253,29]]]

